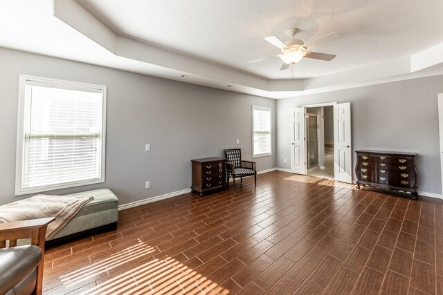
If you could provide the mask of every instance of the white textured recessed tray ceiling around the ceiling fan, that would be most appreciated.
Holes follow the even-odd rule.
[[[78,0],[118,35],[169,48],[259,75],[288,79],[280,53],[264,41],[287,40],[287,28],[311,41],[329,32],[341,39],[314,51],[337,55],[332,61],[302,59],[294,77],[309,78],[406,57],[443,42],[441,0]]]

